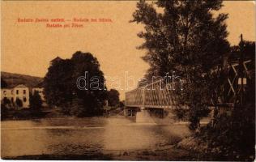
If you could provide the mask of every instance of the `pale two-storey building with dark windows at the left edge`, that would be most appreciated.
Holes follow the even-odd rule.
[[[19,99],[23,103],[23,108],[29,108],[29,88],[23,84],[12,88],[1,88],[1,100],[5,98],[11,100],[11,103],[15,103]]]

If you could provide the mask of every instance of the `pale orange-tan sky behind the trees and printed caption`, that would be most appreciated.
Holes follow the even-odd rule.
[[[1,5],[2,71],[44,77],[53,58],[71,58],[76,51],[89,52],[100,62],[107,87],[125,89],[127,76],[138,80],[149,67],[141,59],[145,51],[136,49],[143,43],[137,36],[143,26],[129,23],[136,9],[135,1],[2,1]],[[220,12],[229,15],[231,45],[238,44],[241,33],[245,40],[255,40],[253,1],[224,1]],[[46,28],[46,23],[19,23],[19,18],[112,22],[83,23],[83,28]],[[119,89],[121,99],[125,91]]]

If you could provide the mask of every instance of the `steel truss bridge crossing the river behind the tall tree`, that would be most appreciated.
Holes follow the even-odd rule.
[[[234,103],[237,95],[241,92],[241,68],[244,71],[243,84],[248,82],[250,79],[249,68],[251,60],[244,62],[236,61],[230,62],[226,66],[227,78],[224,85],[224,94],[220,100],[220,104]],[[247,80],[246,80],[247,79]],[[130,92],[126,92],[126,109],[130,109],[130,115],[133,116],[135,111],[146,109],[155,109],[158,112],[163,113],[164,109],[176,109],[175,99],[173,100],[173,89],[169,88],[169,85],[164,83],[164,80],[157,80],[156,82],[150,83],[144,87],[137,87]],[[184,107],[187,109],[186,107]]]

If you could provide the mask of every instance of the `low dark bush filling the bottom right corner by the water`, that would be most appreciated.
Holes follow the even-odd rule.
[[[203,127],[196,137],[208,143],[217,160],[254,160],[254,113],[254,106],[237,107],[231,115],[216,117],[214,125]]]

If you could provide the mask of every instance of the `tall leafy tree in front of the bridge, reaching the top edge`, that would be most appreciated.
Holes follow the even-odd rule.
[[[222,0],[177,1],[158,0],[148,4],[137,3],[131,22],[144,24],[138,36],[145,42],[139,49],[147,49],[143,60],[150,65],[146,77],[163,77],[175,71],[182,79],[183,91],[173,91],[178,109],[189,107],[190,129],[196,130],[200,118],[209,112],[218,85],[212,70],[222,64],[229,51],[226,14],[214,16]],[[160,10],[156,10],[156,8]],[[163,11],[163,12],[160,12]]]

